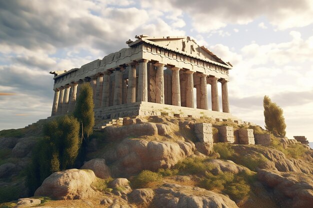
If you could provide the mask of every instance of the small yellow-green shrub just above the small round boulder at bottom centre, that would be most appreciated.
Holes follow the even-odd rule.
[[[161,184],[161,179],[161,174],[144,170],[131,180],[131,185],[134,189],[149,188],[150,183]]]

